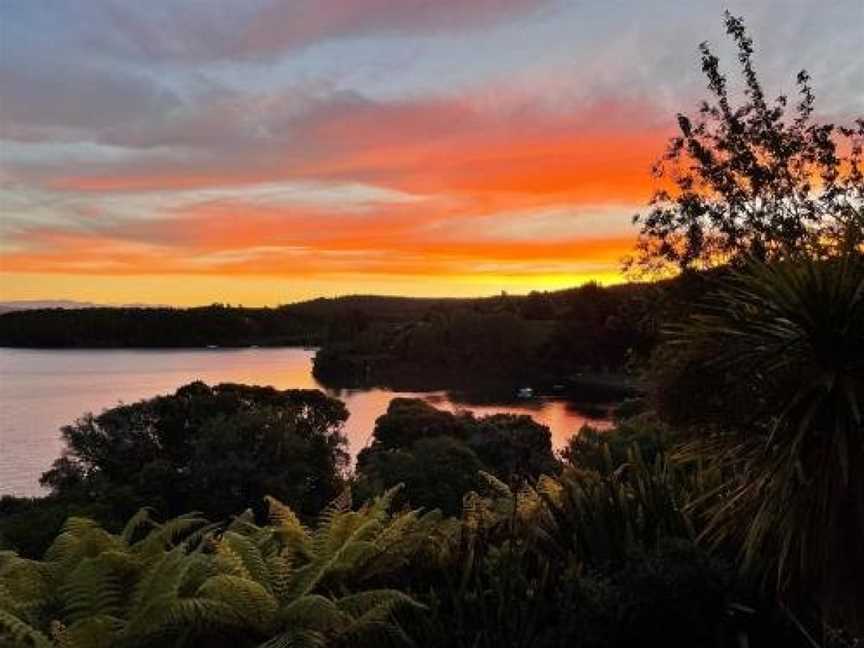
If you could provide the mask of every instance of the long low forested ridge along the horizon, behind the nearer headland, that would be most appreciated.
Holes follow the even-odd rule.
[[[615,301],[636,286],[589,289]],[[221,304],[196,308],[93,307],[15,310],[0,314],[0,346],[123,348],[320,345],[353,338],[370,325],[410,323],[431,314],[508,311],[520,319],[556,320],[572,310],[574,288],[525,296],[413,298],[351,295],[277,308]],[[577,301],[578,298],[577,298]],[[582,300],[584,301],[584,300]]]

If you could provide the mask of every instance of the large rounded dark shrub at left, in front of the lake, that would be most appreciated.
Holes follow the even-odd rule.
[[[122,520],[149,506],[214,519],[273,494],[317,514],[342,488],[345,405],[316,390],[192,383],[170,396],[85,415],[42,476],[58,498]]]

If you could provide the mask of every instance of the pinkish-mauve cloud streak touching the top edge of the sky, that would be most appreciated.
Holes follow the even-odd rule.
[[[292,0],[202,6],[103,0],[110,29],[87,44],[139,59],[202,62],[268,59],[333,39],[461,32],[547,8],[549,0]]]

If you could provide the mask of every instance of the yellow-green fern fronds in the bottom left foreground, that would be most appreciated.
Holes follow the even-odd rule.
[[[393,495],[352,511],[346,493],[312,530],[273,499],[264,527],[142,510],[113,535],[70,518],[44,560],[0,554],[0,645],[404,644],[393,613],[419,604],[366,583],[423,551],[439,516],[391,515]]]

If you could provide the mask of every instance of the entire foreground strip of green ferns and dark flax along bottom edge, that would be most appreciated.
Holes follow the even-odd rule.
[[[0,637],[72,647],[599,647],[637,637],[713,646],[728,574],[691,541],[692,482],[659,457],[646,464],[635,446],[628,459],[515,489],[485,475],[461,519],[390,514],[395,491],[357,511],[343,496],[314,530],[272,499],[265,526],[248,512],[217,528],[194,516],[160,525],[142,511],[113,535],[72,518],[44,560],[2,554]]]

